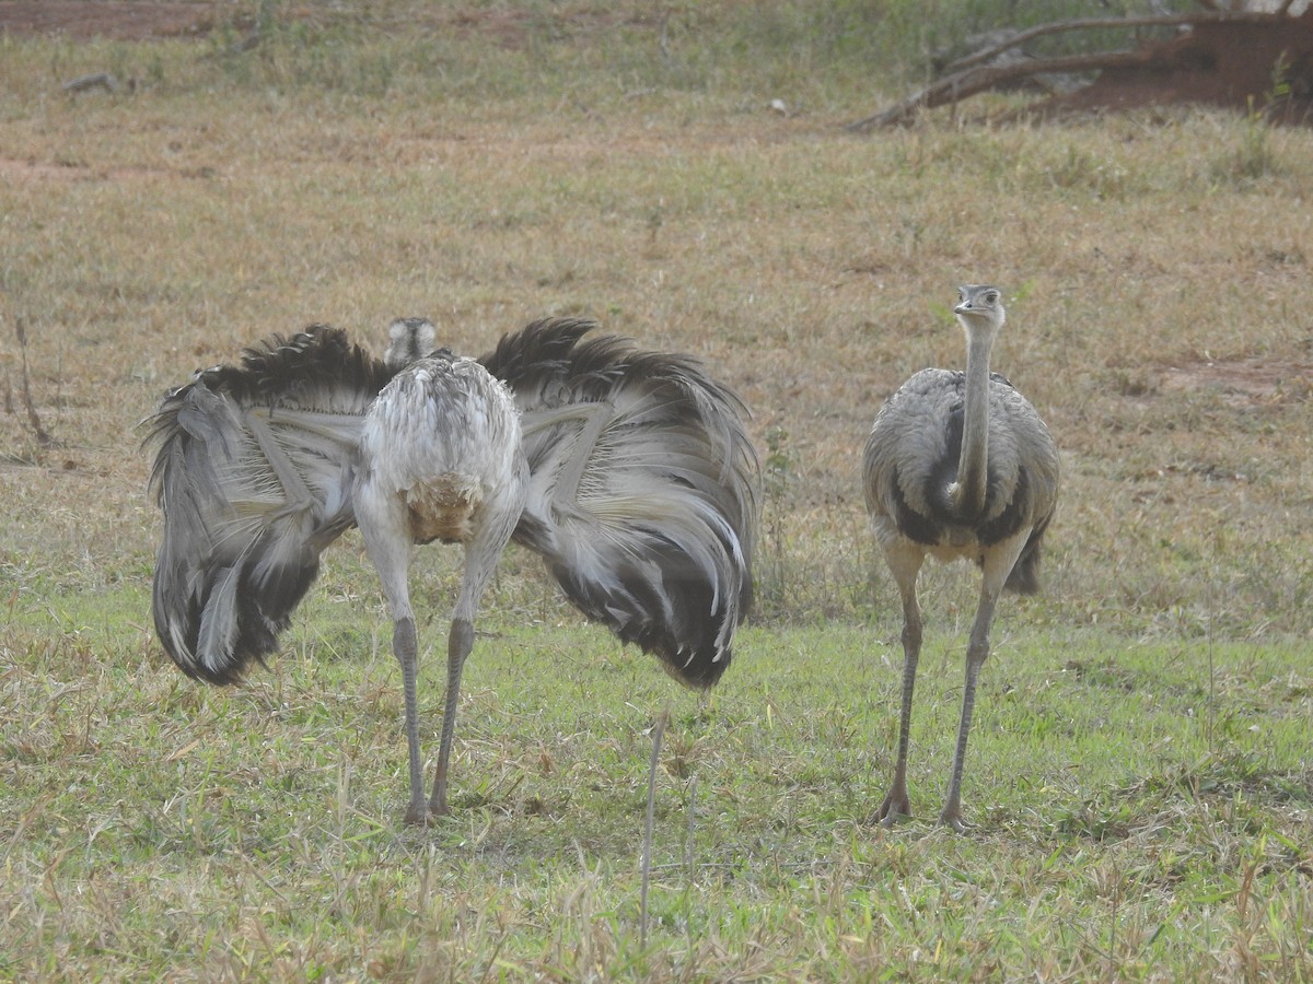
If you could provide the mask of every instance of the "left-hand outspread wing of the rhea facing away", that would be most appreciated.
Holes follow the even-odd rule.
[[[164,514],[152,614],[185,673],[231,684],[274,651],[320,551],[355,522],[360,422],[389,377],[315,325],[198,373],[147,421]]]

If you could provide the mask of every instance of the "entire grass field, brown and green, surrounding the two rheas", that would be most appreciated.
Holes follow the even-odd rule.
[[[0,35],[0,977],[1313,979],[1313,131],[983,100],[857,136],[905,75],[856,4],[344,7],[252,4],[248,51]],[[60,92],[93,71],[137,85]],[[857,463],[985,279],[1064,499],[995,623],[968,836],[930,819],[976,577],[927,569],[885,830]],[[427,832],[358,537],[268,670],[202,689],[152,635],[135,430],[272,332],[419,314],[475,354],[544,314],[696,353],[767,488],[705,701],[508,552]],[[431,753],[456,577],[419,555]]]

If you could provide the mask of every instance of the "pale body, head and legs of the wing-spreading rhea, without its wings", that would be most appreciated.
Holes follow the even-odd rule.
[[[520,412],[503,383],[471,358],[433,352],[423,319],[394,321],[385,361],[398,373],[369,407],[360,434],[356,522],[393,617],[402,666],[410,803],[406,821],[444,815],[461,672],[488,577],[520,520],[529,470]],[[429,354],[420,354],[420,353]],[[433,792],[424,800],[419,739],[419,643],[408,573],[415,543],[465,548],[461,589],[446,644],[446,701]]]

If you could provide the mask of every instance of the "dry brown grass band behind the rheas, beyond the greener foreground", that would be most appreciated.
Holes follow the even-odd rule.
[[[482,352],[570,311],[695,352],[742,391],[788,479],[765,562],[827,585],[765,614],[861,615],[865,428],[909,373],[961,361],[953,285],[991,279],[1014,298],[997,367],[1065,455],[1064,617],[1141,631],[1211,605],[1241,632],[1306,631],[1306,131],[1264,130],[1270,172],[1251,178],[1254,125],[1203,113],[867,139],[825,114],[689,112],[147,89],[12,119],[11,556],[39,543],[140,571],[134,424],[264,335],[327,320],[369,337],[423,312]],[[20,318],[55,447],[17,405]]]

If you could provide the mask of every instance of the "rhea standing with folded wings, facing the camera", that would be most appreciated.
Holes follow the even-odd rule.
[[[1058,454],[1035,408],[989,371],[1004,318],[998,287],[958,287],[953,312],[966,333],[966,373],[923,369],[889,398],[867,441],[863,487],[903,610],[898,761],[876,813],[885,825],[911,813],[907,745],[922,638],[916,575],[927,554],[974,560],[983,572],[966,644],[953,771],[939,815],[940,823],[962,830],[962,762],[990,622],[1003,589],[1039,590],[1040,541],[1057,504]]]

